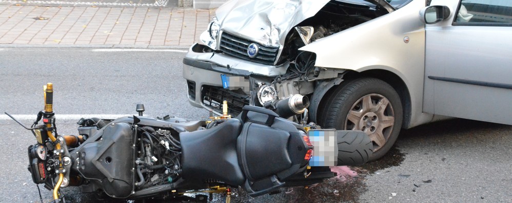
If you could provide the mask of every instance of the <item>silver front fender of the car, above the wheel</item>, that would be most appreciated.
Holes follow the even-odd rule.
[[[417,0],[395,12],[322,38],[300,50],[317,54],[315,66],[363,72],[390,71],[407,85],[411,96],[411,120],[406,128],[428,123],[431,114],[422,112],[425,56],[425,24],[419,11],[425,1]],[[409,42],[405,43],[404,38]]]

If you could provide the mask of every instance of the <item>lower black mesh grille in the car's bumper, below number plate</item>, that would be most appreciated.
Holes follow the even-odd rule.
[[[242,112],[245,105],[249,105],[249,95],[241,90],[231,91],[222,87],[204,85],[201,90],[203,104],[222,114],[222,102],[228,102],[228,114],[235,117]]]

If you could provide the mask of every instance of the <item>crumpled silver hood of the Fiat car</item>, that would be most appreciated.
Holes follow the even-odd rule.
[[[280,47],[297,24],[329,0],[231,0],[216,10],[221,30],[264,46]]]

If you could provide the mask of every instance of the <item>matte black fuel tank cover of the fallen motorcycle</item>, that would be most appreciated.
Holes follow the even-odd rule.
[[[127,123],[110,124],[81,145],[78,171],[101,181],[110,196],[128,197],[133,189],[133,136]],[[101,138],[101,139],[100,139]]]

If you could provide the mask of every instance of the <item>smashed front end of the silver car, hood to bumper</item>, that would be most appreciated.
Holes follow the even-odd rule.
[[[238,115],[290,95],[310,95],[318,81],[346,70],[314,66],[299,49],[394,10],[385,1],[229,1],[186,54],[183,76],[196,107]]]

